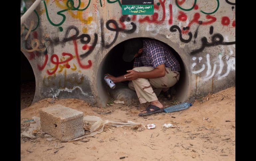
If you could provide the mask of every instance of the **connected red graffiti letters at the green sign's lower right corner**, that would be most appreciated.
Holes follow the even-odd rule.
[[[139,22],[140,22],[140,23],[147,21],[147,22],[149,22],[149,23],[162,24],[162,23],[164,22],[164,20],[165,20],[165,15],[166,15],[166,13],[165,13],[165,1],[166,1],[166,0],[164,0],[164,1],[159,0],[159,1],[160,1],[161,6],[162,6],[162,9],[163,9],[163,17],[162,17],[162,20],[158,21],[158,20],[157,20],[157,19],[158,19],[158,13],[154,13],[154,14],[151,16],[151,18],[152,18],[151,20],[150,20],[149,16],[146,16],[146,17],[143,18],[143,19],[139,19]],[[156,4],[154,4],[154,10],[155,10],[155,9],[159,10],[159,6],[156,5]]]

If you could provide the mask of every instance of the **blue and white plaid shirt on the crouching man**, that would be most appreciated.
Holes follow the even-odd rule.
[[[157,40],[143,39],[143,53],[134,59],[133,65],[152,66],[155,69],[161,64],[165,64],[165,67],[171,68],[172,71],[181,71],[178,60],[168,46]]]

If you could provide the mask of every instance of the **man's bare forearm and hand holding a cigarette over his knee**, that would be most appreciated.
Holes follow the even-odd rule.
[[[148,72],[137,72],[135,70],[127,70],[130,72],[129,74],[125,74],[126,80],[135,80],[137,78],[160,78],[165,76],[165,64],[160,64],[155,69],[148,71]]]

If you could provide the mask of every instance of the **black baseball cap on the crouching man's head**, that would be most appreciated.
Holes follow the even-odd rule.
[[[123,60],[131,62],[135,54],[143,47],[143,41],[136,38],[127,40],[124,44]]]

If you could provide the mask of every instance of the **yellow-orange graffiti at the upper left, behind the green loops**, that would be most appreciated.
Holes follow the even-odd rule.
[[[62,2],[62,1],[59,1],[59,2],[58,2],[58,1],[55,1],[56,5],[57,5],[58,7],[60,7],[61,9],[67,9],[67,7],[66,7],[66,0],[62,2],[64,5],[62,5],[61,2]],[[80,7],[83,8],[84,6],[85,6],[84,3],[81,2]],[[68,10],[67,12],[68,12],[68,13],[70,14],[70,16],[72,16],[73,18],[79,19],[83,24],[90,24],[91,21],[92,21],[92,17],[91,17],[91,16],[89,16],[89,17],[87,18],[87,20],[86,20],[86,19],[83,19],[83,11],[74,11],[74,12],[76,12],[76,14],[74,14],[72,10]]]

